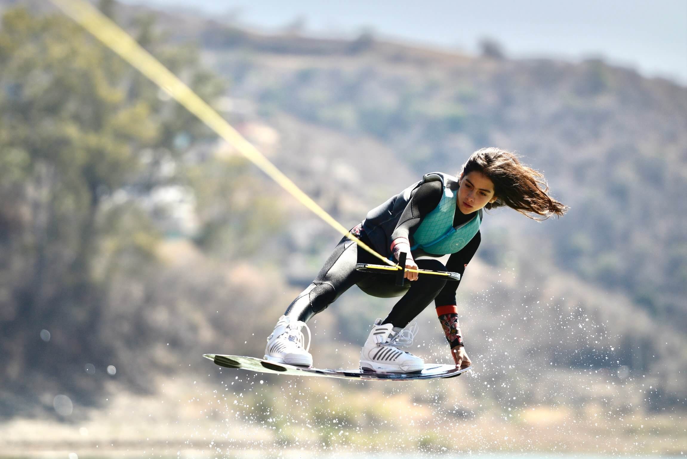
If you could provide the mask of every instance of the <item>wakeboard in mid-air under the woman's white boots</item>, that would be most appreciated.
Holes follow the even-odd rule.
[[[289,376],[325,376],[328,378],[365,379],[370,381],[414,381],[416,379],[453,378],[460,376],[472,367],[456,368],[455,365],[425,363],[425,369],[412,373],[374,373],[363,372],[359,368],[351,370],[325,370],[313,367],[297,367],[285,363],[240,355],[203,354],[216,365],[227,368],[243,368],[260,373],[287,374]]]

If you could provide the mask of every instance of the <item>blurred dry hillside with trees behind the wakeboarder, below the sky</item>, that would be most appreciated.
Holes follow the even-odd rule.
[[[10,3],[0,416],[59,418],[55,394],[97,406],[113,378],[152,392],[204,352],[260,355],[339,237],[69,20]],[[511,60],[493,43],[462,56],[102,5],[345,226],[480,147],[545,173],[570,212],[488,215],[460,287],[480,373],[449,401],[469,416],[684,409],[685,87],[602,61]],[[319,314],[318,365],[357,365],[391,306],[351,291]],[[445,361],[429,309],[417,352]]]

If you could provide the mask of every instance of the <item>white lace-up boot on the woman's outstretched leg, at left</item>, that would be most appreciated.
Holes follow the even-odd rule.
[[[308,331],[308,347],[304,348],[304,337],[301,328],[305,327]],[[277,321],[269,337],[267,346],[264,348],[264,359],[286,365],[300,365],[305,367],[313,366],[313,356],[310,349],[310,329],[305,322],[297,320],[295,317],[283,315]]]

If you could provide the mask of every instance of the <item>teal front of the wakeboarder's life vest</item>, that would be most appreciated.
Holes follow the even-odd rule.
[[[458,208],[456,206],[458,189],[452,189],[449,184],[458,182],[458,179],[447,176],[446,178],[450,180],[444,180],[444,174],[436,175],[439,175],[444,185],[444,195],[442,195],[436,208],[425,215],[423,222],[418,226],[413,235],[415,245],[411,247],[411,250],[419,248],[431,255],[447,255],[458,252],[475,237],[477,231],[480,231],[482,209],[477,211],[471,220],[454,228],[453,217],[455,217],[455,210]]]

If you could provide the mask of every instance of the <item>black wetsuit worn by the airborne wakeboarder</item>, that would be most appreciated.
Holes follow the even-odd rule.
[[[408,237],[412,244],[413,234],[425,215],[439,204],[442,195],[443,186],[439,181],[419,184],[412,191],[411,198],[398,219],[392,238]],[[465,215],[456,209],[453,226],[471,220],[474,215],[475,213]],[[372,246],[362,224],[352,228],[351,233],[357,235],[361,242]],[[461,250],[450,255],[446,266],[438,259],[416,259],[415,263],[420,269],[453,271],[460,273],[462,277],[465,266],[475,255],[478,246],[480,246],[479,232]],[[298,320],[308,321],[353,285],[359,286],[363,292],[375,297],[403,295],[383,321],[383,323],[392,323],[394,327],[405,328],[432,300],[436,307],[455,304],[455,290],[458,288],[459,281],[447,281],[440,276],[420,275],[415,281],[405,279],[401,287],[396,286],[393,275],[361,272],[355,269],[357,263],[379,264],[379,259],[367,250],[359,248],[347,237],[343,237],[312,284],[293,300],[285,314],[295,315]]]

